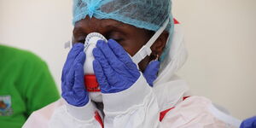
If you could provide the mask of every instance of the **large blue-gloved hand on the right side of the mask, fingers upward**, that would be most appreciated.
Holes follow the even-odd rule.
[[[109,39],[108,44],[99,40],[93,49],[93,55],[94,72],[102,93],[126,90],[140,77],[137,65],[113,39]]]

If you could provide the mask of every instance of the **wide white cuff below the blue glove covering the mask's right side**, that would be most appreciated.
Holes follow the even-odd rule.
[[[132,106],[141,105],[151,92],[152,88],[141,73],[130,88],[118,93],[102,94],[104,112],[123,112]]]

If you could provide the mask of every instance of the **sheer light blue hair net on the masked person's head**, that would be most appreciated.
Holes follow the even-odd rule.
[[[131,26],[137,26],[156,32],[170,19],[166,31],[172,37],[172,1],[171,0],[73,0],[73,24],[86,16],[96,19],[119,20]],[[171,39],[160,59],[169,50]]]

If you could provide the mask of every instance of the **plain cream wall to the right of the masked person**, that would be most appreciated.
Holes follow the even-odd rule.
[[[256,1],[176,0],[189,60],[179,72],[196,95],[244,119],[256,115]]]

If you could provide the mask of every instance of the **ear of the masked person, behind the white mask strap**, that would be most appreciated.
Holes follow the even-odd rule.
[[[169,37],[169,32],[162,32],[160,37],[154,42],[151,46],[152,54],[154,56],[160,56],[163,53],[163,50],[166,48],[166,42]],[[155,59],[155,58],[154,58]]]

